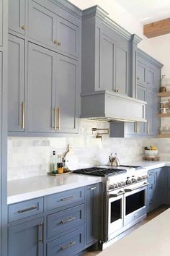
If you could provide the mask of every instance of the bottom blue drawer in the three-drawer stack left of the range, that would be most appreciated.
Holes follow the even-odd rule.
[[[47,244],[47,256],[72,256],[84,249],[84,228]]]

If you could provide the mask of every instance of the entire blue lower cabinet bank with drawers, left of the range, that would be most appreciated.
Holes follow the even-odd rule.
[[[50,197],[63,204],[48,208]],[[74,256],[98,240],[99,184],[9,205],[9,217],[12,209],[21,217],[9,218],[8,256]]]

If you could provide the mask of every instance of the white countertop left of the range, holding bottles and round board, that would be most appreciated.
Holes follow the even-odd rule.
[[[75,189],[101,182],[99,176],[64,174],[60,176],[37,176],[8,182],[8,205],[42,197],[57,192]]]

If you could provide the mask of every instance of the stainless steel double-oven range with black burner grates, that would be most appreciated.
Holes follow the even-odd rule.
[[[146,217],[146,169],[140,166],[97,166],[74,172],[102,176],[102,249]]]

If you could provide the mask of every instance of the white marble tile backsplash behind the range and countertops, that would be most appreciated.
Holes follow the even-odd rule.
[[[112,152],[121,163],[141,161],[145,145],[156,145],[161,160],[170,161],[170,139],[115,139],[104,135],[101,141],[91,135],[92,127],[105,128],[108,124],[81,121],[81,134],[76,137],[9,137],[8,180],[45,175],[53,150],[62,154],[68,144],[78,158],[77,168],[105,164]]]

